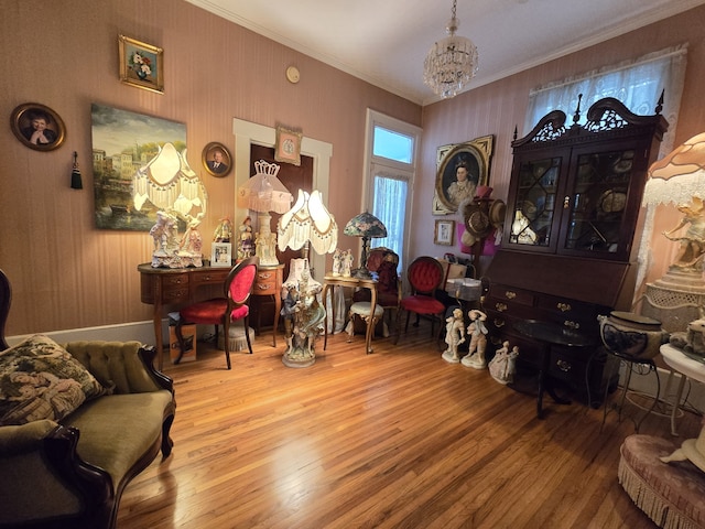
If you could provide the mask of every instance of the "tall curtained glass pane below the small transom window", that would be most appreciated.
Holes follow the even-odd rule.
[[[403,270],[402,250],[404,219],[406,217],[406,192],[409,184],[404,180],[375,176],[375,204],[372,214],[387,227],[387,237],[372,239],[371,247],[384,246],[399,255],[400,270]]]

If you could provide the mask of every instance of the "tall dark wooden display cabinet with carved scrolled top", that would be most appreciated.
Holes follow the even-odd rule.
[[[653,116],[637,116],[606,98],[585,125],[578,105],[570,127],[555,110],[514,134],[502,247],[484,306],[491,342],[519,346],[519,376],[539,369],[541,346],[512,323],[551,321],[599,336],[598,314],[630,310],[647,170],[668,128],[660,111],[661,101]],[[599,348],[556,346],[549,376],[595,402],[616,382],[606,361]]]

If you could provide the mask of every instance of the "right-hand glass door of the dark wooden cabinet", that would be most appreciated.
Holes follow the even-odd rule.
[[[561,250],[616,253],[622,239],[634,151],[574,153],[563,197]],[[623,245],[622,245],[623,246]]]

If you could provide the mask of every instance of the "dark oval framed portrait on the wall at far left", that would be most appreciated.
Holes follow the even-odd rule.
[[[12,110],[10,127],[18,140],[36,151],[57,149],[66,136],[58,114],[39,102],[25,102]]]

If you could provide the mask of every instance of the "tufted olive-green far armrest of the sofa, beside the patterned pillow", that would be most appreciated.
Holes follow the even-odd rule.
[[[139,342],[69,342],[64,347],[106,388],[116,393],[140,393],[166,389],[170,377],[154,369],[154,348]]]

